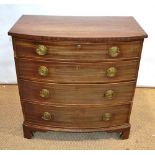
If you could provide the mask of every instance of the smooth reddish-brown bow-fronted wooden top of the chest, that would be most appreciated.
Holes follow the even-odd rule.
[[[9,35],[37,40],[129,41],[147,37],[133,17],[23,15]]]

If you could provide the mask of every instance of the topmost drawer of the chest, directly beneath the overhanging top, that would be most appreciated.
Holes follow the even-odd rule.
[[[142,41],[116,43],[15,41],[16,56],[61,61],[108,61],[140,57]],[[42,46],[40,46],[42,45]]]

